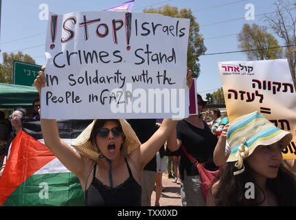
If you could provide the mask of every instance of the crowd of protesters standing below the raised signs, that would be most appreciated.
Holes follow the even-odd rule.
[[[190,80],[188,70],[188,86]],[[44,82],[40,72],[35,80],[39,93]],[[22,108],[14,109],[7,118],[0,111],[0,177],[24,120],[41,120],[45,144],[78,176],[87,206],[151,206],[153,190],[154,206],[161,206],[161,193],[166,190],[163,176],[175,179],[183,206],[296,206],[295,159],[282,159],[282,150],[291,142],[292,134],[277,129],[258,112],[242,115],[229,124],[226,111],[222,115],[220,109],[205,110],[207,100],[199,94],[197,101],[198,113],[179,122],[93,120],[72,143],[83,157],[60,140],[55,120],[41,119],[39,98],[33,100],[33,114],[29,116]],[[264,141],[260,140],[260,134],[267,131]],[[87,153],[90,149],[93,152]],[[198,168],[185,152],[207,170],[220,170],[207,197]],[[127,179],[124,187],[118,187]],[[249,182],[257,195],[252,199],[244,196]],[[98,183],[108,190],[102,190]],[[116,190],[109,193],[109,188]]]

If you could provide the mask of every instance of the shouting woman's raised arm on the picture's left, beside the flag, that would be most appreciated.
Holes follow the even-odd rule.
[[[43,66],[42,69],[45,69],[45,67]],[[43,72],[38,73],[36,80],[34,80],[34,86],[38,90],[41,100],[41,88],[45,87],[45,77]],[[78,178],[82,177],[84,167],[86,166],[85,159],[82,155],[74,151],[71,146],[60,139],[56,120],[43,119],[41,117],[41,131],[45,145],[49,150],[58,157],[64,166],[78,176]]]

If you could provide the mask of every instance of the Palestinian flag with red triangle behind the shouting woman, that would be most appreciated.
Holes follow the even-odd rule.
[[[60,120],[68,144],[91,120]],[[0,179],[0,206],[84,206],[80,181],[45,146],[40,122],[24,122]]]

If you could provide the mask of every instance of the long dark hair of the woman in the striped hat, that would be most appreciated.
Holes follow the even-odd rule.
[[[234,176],[237,168],[234,166],[236,162],[228,162],[225,170],[220,175],[218,190],[214,196],[216,206],[259,206],[264,202],[266,195],[263,190],[255,184],[255,179],[251,175],[251,170],[246,162],[244,162],[244,172]],[[251,182],[255,186],[255,198],[247,199],[245,197],[245,188],[247,182]],[[278,206],[296,206],[296,179],[295,175],[280,166],[277,177],[267,179],[266,188],[274,193]],[[264,195],[261,201],[258,201],[258,193]]]

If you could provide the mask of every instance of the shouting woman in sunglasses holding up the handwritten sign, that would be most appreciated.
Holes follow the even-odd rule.
[[[188,87],[191,84],[191,71],[187,69]],[[34,85],[41,96],[43,72]],[[71,144],[78,153],[60,139],[56,120],[41,118],[45,145],[78,177],[87,206],[140,206],[143,168],[176,124],[177,120],[163,120],[155,134],[141,144],[126,120],[93,120]]]

